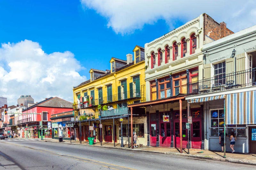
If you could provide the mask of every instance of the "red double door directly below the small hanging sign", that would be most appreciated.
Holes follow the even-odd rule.
[[[171,146],[171,124],[170,122],[160,123],[160,146]]]

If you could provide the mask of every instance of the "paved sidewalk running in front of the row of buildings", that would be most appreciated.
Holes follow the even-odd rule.
[[[39,140],[41,141],[41,140]],[[50,139],[46,138],[43,140],[44,142],[54,142],[59,143],[58,139]],[[144,152],[155,152],[155,153],[163,153],[163,154],[170,154],[170,155],[179,155],[179,156],[186,156],[186,157],[194,157],[194,158],[202,158],[202,159],[212,159],[218,161],[225,161],[225,162],[233,162],[233,163],[240,163],[240,164],[249,164],[249,165],[256,165],[256,154],[247,154],[247,153],[226,153],[226,158],[224,158],[224,153],[220,151],[206,151],[200,149],[183,149],[183,153],[176,148],[168,148],[168,147],[151,147],[151,146],[142,146],[138,148],[132,149],[131,147],[128,148],[128,144],[121,147],[120,143],[116,143],[114,147],[114,143],[94,143],[93,145],[89,145],[89,142],[82,141],[80,144],[79,141],[72,140],[63,140],[61,143],[67,144],[79,144],[79,145],[87,145],[92,147],[104,147],[104,148],[114,148],[114,149],[124,149],[124,150],[133,150],[133,151],[144,151]]]

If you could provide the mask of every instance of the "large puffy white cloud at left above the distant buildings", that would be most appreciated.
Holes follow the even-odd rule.
[[[55,96],[72,102],[73,86],[86,80],[73,53],[46,54],[30,40],[2,44],[0,63],[5,63],[0,65],[0,96],[8,105],[16,105],[20,95],[31,95],[35,102]]]

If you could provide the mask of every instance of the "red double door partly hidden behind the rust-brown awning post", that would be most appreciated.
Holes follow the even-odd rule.
[[[180,148],[180,122],[174,122],[174,132],[175,132],[175,147]],[[182,120],[182,148],[187,148],[188,135],[186,129],[186,122]]]

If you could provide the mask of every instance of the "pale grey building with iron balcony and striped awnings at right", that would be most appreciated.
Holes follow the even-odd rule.
[[[192,82],[190,106],[204,107],[205,149],[219,150],[219,133],[237,136],[235,150],[256,153],[256,26],[204,45],[203,79]],[[227,138],[227,151],[230,141]]]

